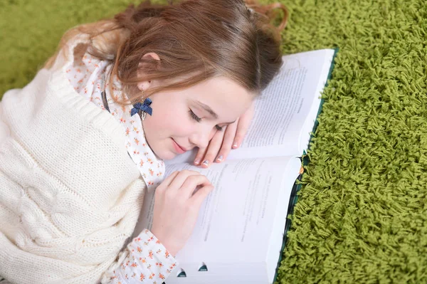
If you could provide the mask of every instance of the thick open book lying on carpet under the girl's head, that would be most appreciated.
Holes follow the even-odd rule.
[[[191,169],[206,175],[215,188],[165,283],[273,283],[291,190],[302,173],[300,157],[315,131],[335,53],[324,49],[283,56],[280,73],[255,100],[241,147],[232,149],[226,161],[209,169],[195,167],[196,149],[167,161],[166,177]],[[151,228],[153,206],[149,192],[134,237]]]

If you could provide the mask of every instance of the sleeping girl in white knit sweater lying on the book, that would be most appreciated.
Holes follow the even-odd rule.
[[[162,283],[213,186],[164,159],[221,162],[278,72],[280,4],[130,6],[78,26],[0,103],[0,275],[12,283]],[[278,28],[271,9],[285,12]],[[237,135],[236,135],[237,133]],[[240,137],[240,138],[238,138]],[[220,149],[221,148],[221,149]],[[146,191],[151,231],[130,240]],[[194,191],[194,189],[198,189]]]

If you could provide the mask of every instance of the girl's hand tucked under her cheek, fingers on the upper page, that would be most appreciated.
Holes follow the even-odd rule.
[[[230,153],[231,147],[237,149],[242,144],[243,137],[245,137],[249,125],[251,125],[254,109],[255,104],[252,102],[251,107],[236,122],[227,125],[224,131],[217,131],[211,142],[209,142],[208,147],[199,148],[194,164],[207,168],[212,162],[223,162]]]

